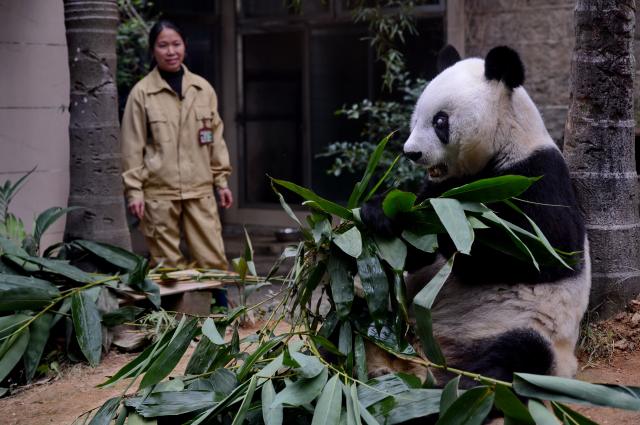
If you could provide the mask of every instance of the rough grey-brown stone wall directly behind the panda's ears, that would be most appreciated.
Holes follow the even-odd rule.
[[[574,6],[574,0],[464,1],[466,56],[484,57],[504,44],[516,49],[525,64],[525,88],[556,141],[569,105]]]

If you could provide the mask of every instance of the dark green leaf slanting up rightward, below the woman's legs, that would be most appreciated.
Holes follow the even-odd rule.
[[[197,326],[198,319],[192,318],[187,320],[183,327],[176,328],[167,347],[149,366],[140,383],[140,389],[157,384],[171,373],[189,347],[191,340],[196,336]]]

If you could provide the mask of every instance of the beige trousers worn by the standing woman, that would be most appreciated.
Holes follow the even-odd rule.
[[[180,229],[196,267],[227,269],[222,226],[213,195],[171,201],[145,200],[141,230],[151,253],[152,266],[187,266],[180,251]]]

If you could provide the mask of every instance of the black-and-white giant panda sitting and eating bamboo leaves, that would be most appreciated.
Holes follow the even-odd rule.
[[[459,60],[452,47],[443,52],[438,61],[443,70],[420,95],[403,148],[406,157],[426,170],[418,199],[480,178],[542,176],[520,196],[523,201],[516,202],[552,246],[579,252],[579,259],[572,269],[553,265],[537,271],[530,263],[474,244],[470,256],[456,256],[436,298],[434,334],[452,367],[505,381],[511,381],[514,372],[572,377],[591,272],[568,168],[522,87],[524,66],[514,50],[496,47],[484,60]],[[497,212],[531,229],[510,208]],[[384,216],[380,199],[366,203],[361,217],[377,233],[401,230],[402,219]],[[481,231],[504,237],[500,230]],[[424,267],[407,276],[408,292],[415,295],[455,251],[442,239],[435,263],[418,257],[418,266]]]

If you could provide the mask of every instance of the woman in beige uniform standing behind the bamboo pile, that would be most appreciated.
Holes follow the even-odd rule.
[[[129,211],[141,220],[152,265],[186,265],[182,228],[197,267],[226,269],[213,189],[222,208],[233,195],[216,93],[183,65],[185,41],[173,23],[153,26],[149,49],[156,66],[133,87],[122,117]]]

